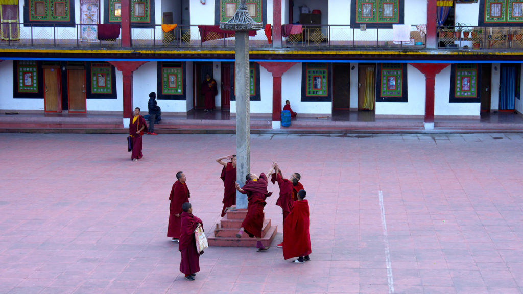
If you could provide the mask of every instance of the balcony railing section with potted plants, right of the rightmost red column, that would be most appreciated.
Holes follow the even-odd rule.
[[[438,28],[438,47],[447,49],[521,49],[523,48],[523,27],[440,27]]]

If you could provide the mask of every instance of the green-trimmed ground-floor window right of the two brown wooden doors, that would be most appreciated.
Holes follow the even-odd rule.
[[[108,62],[86,62],[87,98],[116,99],[116,70]]]

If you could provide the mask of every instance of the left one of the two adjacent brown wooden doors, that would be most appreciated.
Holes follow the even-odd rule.
[[[46,112],[62,112],[60,66],[43,69],[43,100]]]

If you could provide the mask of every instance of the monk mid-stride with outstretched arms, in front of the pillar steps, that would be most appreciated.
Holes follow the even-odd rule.
[[[274,164],[269,169],[267,174],[272,173]],[[242,232],[245,232],[249,237],[256,237],[256,248],[258,252],[269,249],[269,246],[265,247],[261,244],[261,230],[263,229],[264,212],[263,208],[267,205],[265,199],[272,195],[267,191],[267,176],[261,173],[259,177],[256,174],[249,173],[245,176],[245,185],[240,188],[237,182],[235,182],[236,190],[242,194],[247,194],[247,215],[242,222],[240,231],[236,234],[237,238],[242,238]]]

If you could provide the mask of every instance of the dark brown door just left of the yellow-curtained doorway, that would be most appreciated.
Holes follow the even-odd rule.
[[[350,63],[333,65],[333,109],[350,109]]]

